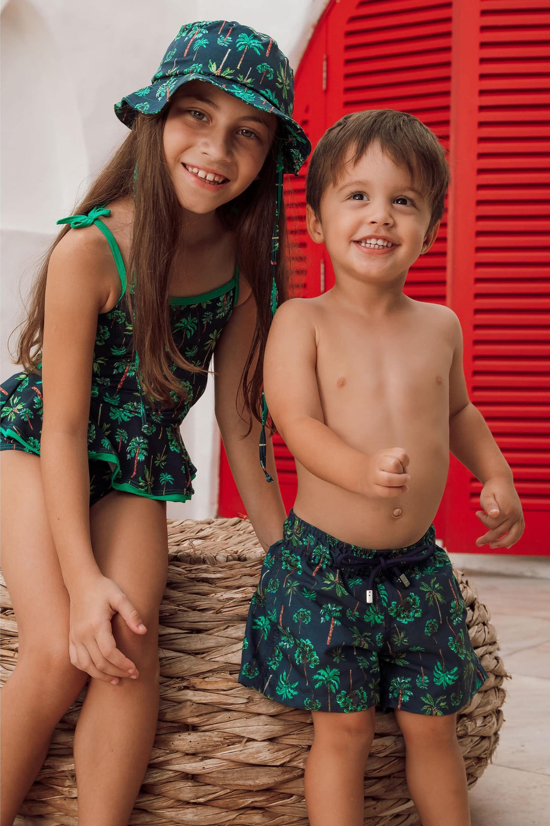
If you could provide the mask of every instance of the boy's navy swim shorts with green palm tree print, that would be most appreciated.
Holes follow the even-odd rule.
[[[487,677],[466,613],[433,525],[414,545],[377,551],[291,510],[263,562],[239,682],[311,711],[453,714]]]

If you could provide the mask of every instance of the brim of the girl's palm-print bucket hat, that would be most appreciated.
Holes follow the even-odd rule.
[[[138,112],[144,115],[158,115],[171,102],[174,93],[191,80],[202,80],[204,83],[211,83],[212,86],[220,88],[222,92],[237,97],[239,100],[248,103],[260,112],[267,112],[276,115],[282,121],[282,159],[284,171],[287,173],[297,173],[301,165],[311,152],[311,143],[301,126],[285,115],[267,97],[258,94],[254,89],[244,86],[242,83],[225,82],[223,78],[216,78],[213,75],[190,72],[185,75],[176,75],[173,78],[162,78],[151,83],[150,86],[139,89],[130,95],[122,98],[120,103],[115,104],[115,114],[119,121],[131,128]]]

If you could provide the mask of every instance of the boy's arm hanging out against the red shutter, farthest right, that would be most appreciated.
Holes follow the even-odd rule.
[[[524,532],[514,477],[481,413],[468,398],[462,366],[462,330],[453,313],[453,363],[449,372],[449,447],[483,485],[477,518],[488,529],[478,546],[510,548]]]

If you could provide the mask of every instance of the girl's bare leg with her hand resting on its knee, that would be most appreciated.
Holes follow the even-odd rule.
[[[140,611],[147,633],[118,615],[113,634],[138,680],[90,680],[74,738],[79,826],[126,826],[149,762],[159,711],[159,605],[168,571],[164,503],[110,493],[90,510],[92,546],[106,577]]]

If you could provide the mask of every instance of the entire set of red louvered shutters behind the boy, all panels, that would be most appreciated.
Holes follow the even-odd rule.
[[[543,0],[333,0],[296,73],[296,117],[314,146],[359,109],[412,112],[446,147],[450,135],[449,225],[405,292],[460,317],[472,401],[524,505],[524,539],[510,553],[548,553],[547,38]],[[295,289],[314,296],[334,274],[306,235],[305,172],[287,204]],[[275,450],[289,506],[292,458],[277,437]],[[451,551],[476,549],[480,487],[452,460],[436,518]]]

